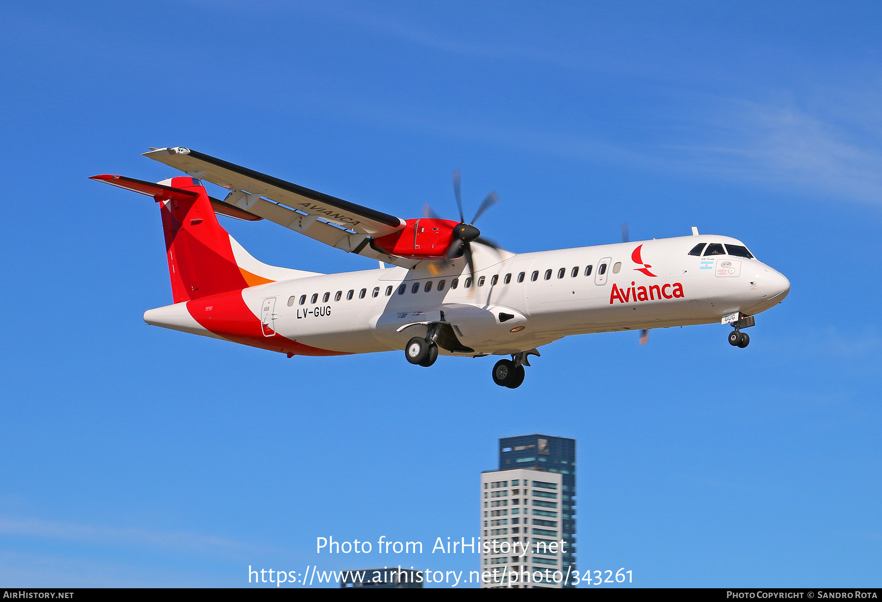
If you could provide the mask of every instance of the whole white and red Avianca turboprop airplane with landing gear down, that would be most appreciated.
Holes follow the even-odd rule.
[[[566,335],[721,322],[744,348],[743,328],[781,302],[790,282],[723,236],[512,253],[460,221],[404,220],[184,147],[145,153],[186,177],[159,184],[92,179],[152,196],[160,205],[174,305],[148,310],[148,324],[265,350],[338,356],[404,350],[411,364],[438,354],[510,356],[493,380],[517,388],[529,356]],[[230,192],[209,197],[202,180]],[[475,218],[498,200],[491,192]],[[378,269],[317,274],[254,259],[216,214],[266,219],[379,261]],[[475,222],[475,219],[472,220]],[[391,264],[392,267],[385,267]]]

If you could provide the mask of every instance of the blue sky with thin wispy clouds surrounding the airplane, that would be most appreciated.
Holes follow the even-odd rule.
[[[872,3],[6,3],[0,584],[243,586],[478,535],[496,439],[578,440],[580,568],[642,586],[879,586],[882,43]],[[147,327],[183,145],[415,217],[496,189],[514,252],[702,233],[792,282],[719,325],[492,359],[288,359]],[[469,209],[467,208],[467,213]],[[271,223],[258,259],[367,269]],[[461,585],[460,585],[461,587]]]

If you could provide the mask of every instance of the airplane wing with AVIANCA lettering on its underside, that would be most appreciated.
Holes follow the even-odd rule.
[[[156,148],[144,153],[144,156],[180,169],[191,177],[222,186],[230,191],[223,201],[228,205],[300,232],[325,245],[404,267],[413,267],[416,263],[415,260],[377,252],[369,244],[371,237],[382,237],[405,227],[404,220],[394,215],[267,176],[190,148]]]

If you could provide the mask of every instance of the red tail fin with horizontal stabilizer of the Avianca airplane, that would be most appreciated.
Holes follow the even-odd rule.
[[[215,212],[239,219],[255,216],[208,196],[195,177],[172,177],[159,184],[122,176],[91,179],[152,196],[160,204],[168,275],[175,303],[230,290],[314,275],[262,263],[221,227]],[[239,214],[236,214],[238,212]]]

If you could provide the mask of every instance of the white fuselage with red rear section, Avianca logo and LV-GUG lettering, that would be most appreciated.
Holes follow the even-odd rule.
[[[157,308],[145,320],[289,355],[402,350],[443,322],[453,338],[439,353],[472,357],[751,316],[787,296],[787,278],[759,260],[689,254],[704,243],[743,247],[713,235],[517,254],[478,247],[475,282],[463,260],[308,275]]]

